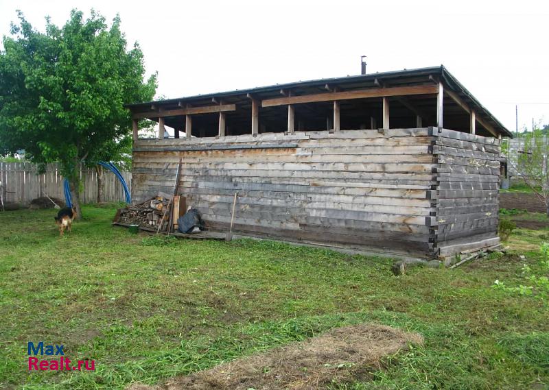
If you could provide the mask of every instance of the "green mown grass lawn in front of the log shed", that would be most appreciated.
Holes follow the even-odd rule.
[[[152,384],[362,322],[419,332],[425,344],[332,389],[549,385],[548,305],[491,287],[524,282],[547,230],[517,230],[506,256],[397,278],[389,258],[132,235],[110,226],[114,212],[85,207],[62,239],[53,210],[0,212],[0,387]],[[65,345],[95,371],[29,374],[27,341]]]

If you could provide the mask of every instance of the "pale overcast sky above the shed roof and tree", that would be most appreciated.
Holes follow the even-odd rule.
[[[119,13],[139,42],[158,96],[444,64],[509,130],[549,123],[549,1],[7,1],[43,30],[71,8]]]

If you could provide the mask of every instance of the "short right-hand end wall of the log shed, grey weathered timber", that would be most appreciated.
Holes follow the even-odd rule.
[[[436,128],[433,136],[437,254],[499,243],[500,140]]]

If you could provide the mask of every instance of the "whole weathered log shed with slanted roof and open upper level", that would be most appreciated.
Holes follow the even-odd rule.
[[[428,257],[499,242],[512,134],[443,66],[128,108],[134,202],[170,193],[182,158],[180,193],[211,230],[237,192],[242,235]],[[141,119],[158,138],[137,137]]]

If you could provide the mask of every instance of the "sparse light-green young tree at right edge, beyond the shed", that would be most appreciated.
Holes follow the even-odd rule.
[[[507,164],[517,171],[519,177],[537,195],[549,216],[549,143],[541,130],[527,132],[520,138],[517,149],[507,145],[502,148]]]

